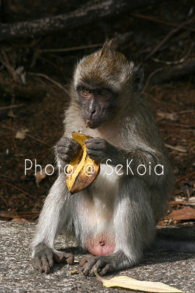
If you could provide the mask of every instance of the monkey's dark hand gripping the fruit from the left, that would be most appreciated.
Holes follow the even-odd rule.
[[[72,138],[62,137],[57,144],[59,159],[64,162],[73,160],[81,146]]]

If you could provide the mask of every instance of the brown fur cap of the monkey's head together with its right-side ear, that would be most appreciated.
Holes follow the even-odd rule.
[[[136,85],[138,81],[138,86]],[[89,56],[83,57],[75,69],[73,84],[89,88],[110,88],[116,93],[124,87],[140,91],[143,82],[143,69],[115,50],[112,40],[106,40],[103,47]]]

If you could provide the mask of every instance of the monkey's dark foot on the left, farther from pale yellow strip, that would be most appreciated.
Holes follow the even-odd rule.
[[[39,272],[49,273],[53,267],[54,260],[58,263],[67,261],[68,265],[74,265],[74,255],[63,251],[45,247],[35,254],[32,258],[32,265],[35,270]]]

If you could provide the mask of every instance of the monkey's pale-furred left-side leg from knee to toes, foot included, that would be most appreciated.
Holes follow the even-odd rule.
[[[35,237],[32,242],[32,265],[35,270],[49,273],[53,260],[74,264],[74,256],[53,248],[54,240],[62,228],[72,221],[71,200],[65,184],[64,174],[60,174],[45,200],[39,216]]]

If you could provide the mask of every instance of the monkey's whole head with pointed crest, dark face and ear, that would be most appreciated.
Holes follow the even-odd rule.
[[[84,57],[73,76],[73,97],[83,121],[91,128],[104,125],[117,111],[129,107],[142,90],[143,68],[134,66],[106,41],[97,52]]]

